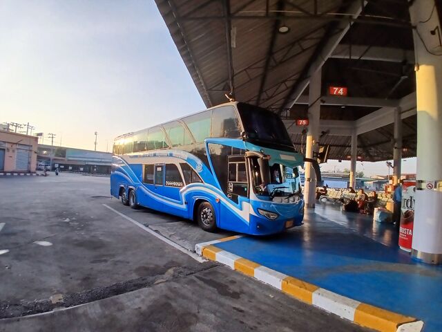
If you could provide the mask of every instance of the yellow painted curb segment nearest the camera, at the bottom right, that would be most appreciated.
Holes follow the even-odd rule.
[[[376,306],[361,303],[354,312],[354,322],[378,331],[396,332],[398,326],[416,321],[416,318],[392,313]]]

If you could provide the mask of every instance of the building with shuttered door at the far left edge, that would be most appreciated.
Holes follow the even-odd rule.
[[[35,172],[37,144],[35,136],[0,130],[0,172]]]

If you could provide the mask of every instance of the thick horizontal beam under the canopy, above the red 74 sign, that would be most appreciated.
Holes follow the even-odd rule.
[[[333,59],[354,59],[385,62],[403,62],[414,64],[413,50],[403,50],[393,47],[379,47],[367,45],[338,45],[332,55]]]

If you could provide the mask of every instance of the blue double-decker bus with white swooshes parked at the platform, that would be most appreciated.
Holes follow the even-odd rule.
[[[273,112],[229,102],[115,138],[111,194],[218,228],[273,234],[302,224],[298,154]]]

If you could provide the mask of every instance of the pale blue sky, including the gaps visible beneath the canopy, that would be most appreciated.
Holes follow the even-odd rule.
[[[0,50],[0,123],[29,122],[46,144],[55,133],[54,145],[93,149],[97,131],[97,150],[111,151],[122,133],[205,108],[151,0],[2,0]],[[416,158],[403,162],[415,169]]]

